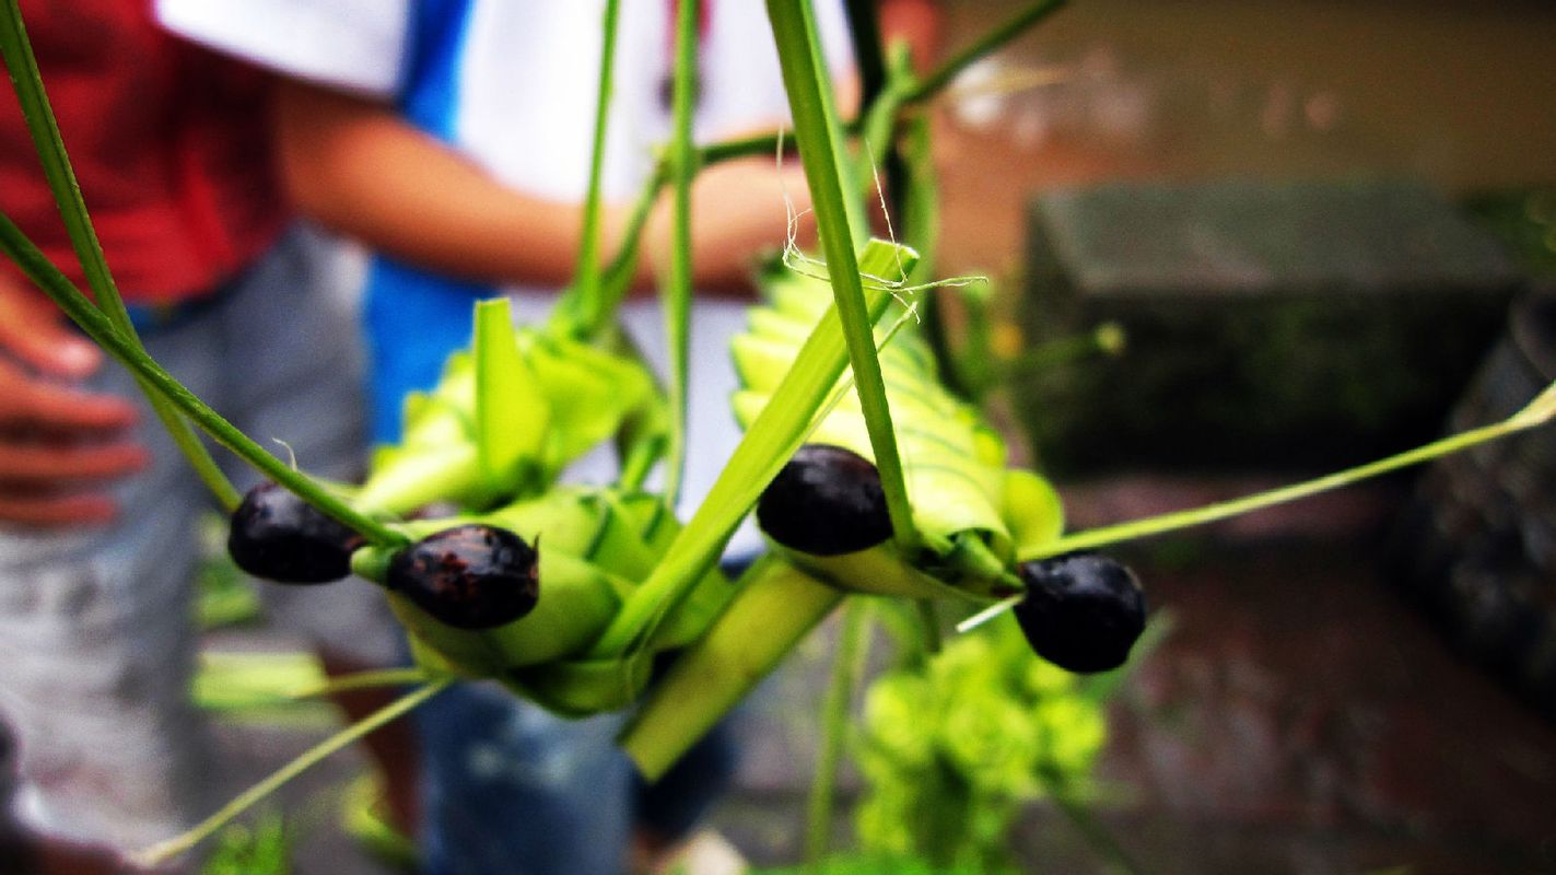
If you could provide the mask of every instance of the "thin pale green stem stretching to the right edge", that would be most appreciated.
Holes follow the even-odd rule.
[[[1480,428],[1472,428],[1460,434],[1452,434],[1449,438],[1441,438],[1424,447],[1416,447],[1414,450],[1407,450],[1379,459],[1376,462],[1368,462],[1365,466],[1357,466],[1326,476],[1313,478],[1304,483],[1295,483],[1281,489],[1271,489],[1268,492],[1260,492],[1257,495],[1248,495],[1243,498],[1234,498],[1231,501],[1218,501],[1215,504],[1206,504],[1204,508],[1195,508],[1192,511],[1178,511],[1173,514],[1162,514],[1159,517],[1147,517],[1144,520],[1131,520],[1128,523],[1119,523],[1113,526],[1095,528],[1083,532],[1069,534],[1057,540],[1049,542],[1035,556],[1022,556],[1027,559],[1041,559],[1044,556],[1058,556],[1061,553],[1074,553],[1077,550],[1091,550],[1095,546],[1103,546],[1108,543],[1117,543],[1122,540],[1133,540],[1139,537],[1150,537],[1155,534],[1162,534],[1175,529],[1184,529],[1189,526],[1198,526],[1204,523],[1214,523],[1217,520],[1225,520],[1228,517],[1235,517],[1240,514],[1248,514],[1249,511],[1259,511],[1262,508],[1270,508],[1274,504],[1282,504],[1287,501],[1296,501],[1298,498],[1307,498],[1319,492],[1327,492],[1341,486],[1349,486],[1358,480],[1366,480],[1369,476],[1377,476],[1397,470],[1407,466],[1425,462],[1438,456],[1446,456],[1449,453],[1456,453],[1475,444],[1483,444],[1486,441],[1494,441],[1505,434],[1512,434],[1516,431],[1523,431],[1525,428],[1534,428],[1544,425],[1556,414],[1556,383],[1548,386],[1534,402],[1517,414],[1508,417],[1503,422],[1492,425],[1483,425]]]

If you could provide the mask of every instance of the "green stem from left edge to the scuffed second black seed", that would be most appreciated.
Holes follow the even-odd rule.
[[[5,213],[0,213],[0,249],[3,249],[5,254],[22,268],[28,279],[44,290],[44,293],[48,294],[48,297],[51,297],[54,304],[58,304],[59,308],[64,310],[65,315],[87,333],[87,336],[96,341],[96,344],[107,350],[107,353],[120,364],[128,367],[129,372],[151,391],[166,399],[174,408],[184,411],[185,416],[215,438],[218,444],[227,447],[251,466],[268,475],[275,483],[293,490],[319,511],[361,532],[372,543],[392,546],[406,542],[405,536],[400,532],[358,512],[322,484],[314,483],[308,478],[308,475],[291,469],[271,453],[265,452],[263,447],[255,444],[249,436],[223,419],[221,414],[207,406],[205,402],[199,400],[199,397],[184,388],[182,383],[173,378],[171,374],[163,371],[160,364],[146,355],[146,350],[114,327],[109,318],[103,315],[101,310],[93,307],[92,302],[81,294],[81,290],[78,290],[70,279],[53,265],[53,262],[39,252],[37,246],[34,246],[33,241],[22,234],[22,229],[19,229]]]

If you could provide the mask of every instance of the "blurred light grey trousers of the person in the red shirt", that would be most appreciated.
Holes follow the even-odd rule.
[[[366,453],[358,332],[350,310],[321,290],[324,263],[319,240],[293,232],[205,305],[143,339],[272,452],[350,476]],[[86,386],[140,403],[135,439],[151,466],[114,483],[123,512],[109,526],[0,526],[0,713],[17,733],[17,816],[48,835],[134,849],[219,802],[209,792],[205,719],[188,694],[196,523],[213,501],[124,369],[107,363]],[[232,475],[240,487],[254,480],[243,466]],[[352,655],[372,646],[378,659],[397,649],[398,627],[363,581],[265,585],[265,595],[289,617],[279,624],[310,641]]]

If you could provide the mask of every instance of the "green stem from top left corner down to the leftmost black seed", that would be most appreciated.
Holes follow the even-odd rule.
[[[107,313],[110,322],[131,338],[135,346],[140,346],[140,338],[135,336],[129,311],[124,310],[124,302],[107,269],[103,246],[96,238],[86,202],[81,198],[81,187],[76,184],[75,170],[72,170],[70,159],[65,154],[59,125],[54,121],[48,95],[44,92],[44,81],[37,72],[37,58],[33,54],[33,45],[26,39],[26,28],[22,23],[22,12],[16,0],[5,0],[5,6],[0,8],[0,53],[5,54],[6,67],[11,70],[11,84],[16,89],[17,103],[22,106],[22,117],[26,121],[33,146],[37,149],[37,157],[44,165],[44,177],[48,181],[48,188],[59,206],[59,215],[64,220],[65,232],[70,237],[76,258],[81,262],[81,271],[86,274],[87,285],[92,288],[98,307]],[[166,427],[174,445],[177,445],[179,452],[194,467],[199,480],[227,511],[235,509],[243,497],[232,486],[232,481],[227,480],[227,475],[221,472],[221,467],[216,466],[216,461],[210,458],[210,452],[201,444],[199,436],[194,434],[190,423],[177,414],[166,399],[159,395],[145,381],[140,381],[140,388],[151,403],[151,409],[156,411],[157,419]]]

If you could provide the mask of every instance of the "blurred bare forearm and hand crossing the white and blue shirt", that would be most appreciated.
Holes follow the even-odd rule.
[[[395,258],[481,282],[563,285],[577,257],[582,204],[498,184],[389,106],[296,79],[277,84],[277,154],[297,209]],[[798,167],[745,159],[706,168],[692,188],[692,272],[706,288],[747,288],[750,258],[784,241],[784,188],[806,198]],[[640,285],[668,249],[668,198],[646,229]],[[604,257],[630,204],[604,213]]]

